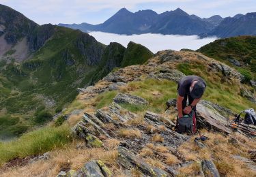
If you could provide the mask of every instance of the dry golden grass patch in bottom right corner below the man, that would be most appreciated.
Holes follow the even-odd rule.
[[[231,136],[238,140],[238,144],[234,145],[229,143],[230,136],[208,133],[207,131],[202,133],[210,138],[210,140],[203,142],[206,148],[196,146],[193,142],[194,138],[191,138],[190,142],[186,142],[178,148],[178,151],[186,160],[214,159],[221,176],[256,176],[256,173],[248,170],[242,161],[231,157],[232,155],[240,155],[249,158],[248,149],[256,148],[255,140],[250,140],[243,135],[234,133]],[[185,172],[182,173],[186,174]]]

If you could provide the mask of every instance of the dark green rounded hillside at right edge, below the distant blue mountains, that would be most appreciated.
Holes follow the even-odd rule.
[[[218,39],[207,44],[199,50],[208,57],[218,59],[229,65],[230,61],[240,61],[242,68],[251,70],[254,77],[256,74],[256,37],[240,36]],[[234,65],[232,65],[234,66]]]

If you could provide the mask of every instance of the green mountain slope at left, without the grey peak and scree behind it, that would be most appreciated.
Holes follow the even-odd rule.
[[[48,122],[55,112],[66,108],[79,93],[76,88],[94,84],[115,67],[141,64],[152,57],[139,44],[130,43],[128,49],[117,43],[104,46],[81,31],[44,28],[55,28],[53,36],[33,58],[0,63],[0,112],[4,109],[11,117],[18,116],[27,128]],[[42,33],[38,30],[35,34]],[[81,103],[73,106],[83,108]]]

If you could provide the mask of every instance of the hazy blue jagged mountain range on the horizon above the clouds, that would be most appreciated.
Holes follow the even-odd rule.
[[[199,35],[201,37],[233,37],[255,35],[255,13],[237,14],[222,18],[219,15],[200,18],[189,15],[180,8],[157,14],[152,10],[130,12],[123,8],[99,25],[59,24],[59,26],[80,29],[81,31],[102,31],[117,34],[160,33],[172,35]]]

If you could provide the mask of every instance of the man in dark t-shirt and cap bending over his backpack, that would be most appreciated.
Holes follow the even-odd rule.
[[[190,114],[192,110],[196,110],[205,87],[205,81],[198,76],[185,76],[179,81],[177,86],[177,118],[182,118],[184,115]],[[195,114],[193,114],[193,125],[196,126]],[[196,131],[195,126],[193,126],[193,131]]]

